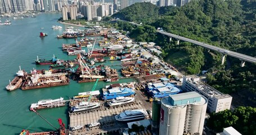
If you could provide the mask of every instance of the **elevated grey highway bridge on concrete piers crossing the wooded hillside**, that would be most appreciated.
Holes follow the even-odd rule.
[[[196,44],[197,46],[204,47],[204,48],[206,48],[208,50],[213,50],[213,51],[220,52],[220,53],[223,54],[223,56],[222,56],[222,64],[224,64],[224,60],[225,60],[225,56],[226,55],[231,56],[231,57],[235,57],[235,58],[241,60],[241,66],[242,67],[245,64],[245,61],[251,62],[251,63],[256,62],[256,57],[251,57],[251,56],[248,56],[248,55],[243,55],[241,53],[237,53],[237,52],[233,52],[233,51],[230,51],[230,50],[223,49],[221,47],[212,46],[210,44],[206,44],[206,43],[199,42],[199,41],[196,41],[196,40],[192,40],[192,39],[189,39],[189,38],[181,37],[179,35],[167,33],[165,31],[158,31],[158,33],[161,33],[163,35],[167,35],[170,38],[170,40],[172,40],[172,38],[176,38],[178,40],[177,44],[179,44],[179,40],[182,40],[182,41],[185,41],[185,42],[190,42],[190,43]]]

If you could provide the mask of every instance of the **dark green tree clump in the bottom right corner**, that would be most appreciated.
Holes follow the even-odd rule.
[[[233,112],[224,110],[212,113],[206,125],[216,132],[222,132],[223,128],[232,126],[241,134],[256,134],[256,108],[240,106]]]

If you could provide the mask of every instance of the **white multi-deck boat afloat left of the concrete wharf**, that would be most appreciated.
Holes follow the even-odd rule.
[[[66,101],[64,101],[63,97],[60,97],[56,100],[52,100],[52,99],[39,100],[37,103],[31,104],[30,110],[60,107],[60,106],[65,106],[65,104],[66,104]]]

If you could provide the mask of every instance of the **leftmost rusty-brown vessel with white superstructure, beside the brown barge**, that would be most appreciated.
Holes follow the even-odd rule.
[[[17,74],[17,76],[12,81],[9,80],[10,83],[8,84],[8,86],[6,86],[6,89],[8,91],[14,91],[15,89],[21,87],[21,84],[23,82],[22,77],[26,73],[25,73],[25,71],[21,70],[21,68],[20,68],[20,70],[16,74]]]

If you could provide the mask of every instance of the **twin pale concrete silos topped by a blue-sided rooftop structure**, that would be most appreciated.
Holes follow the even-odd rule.
[[[197,92],[187,92],[161,100],[159,134],[202,134],[207,99]]]

